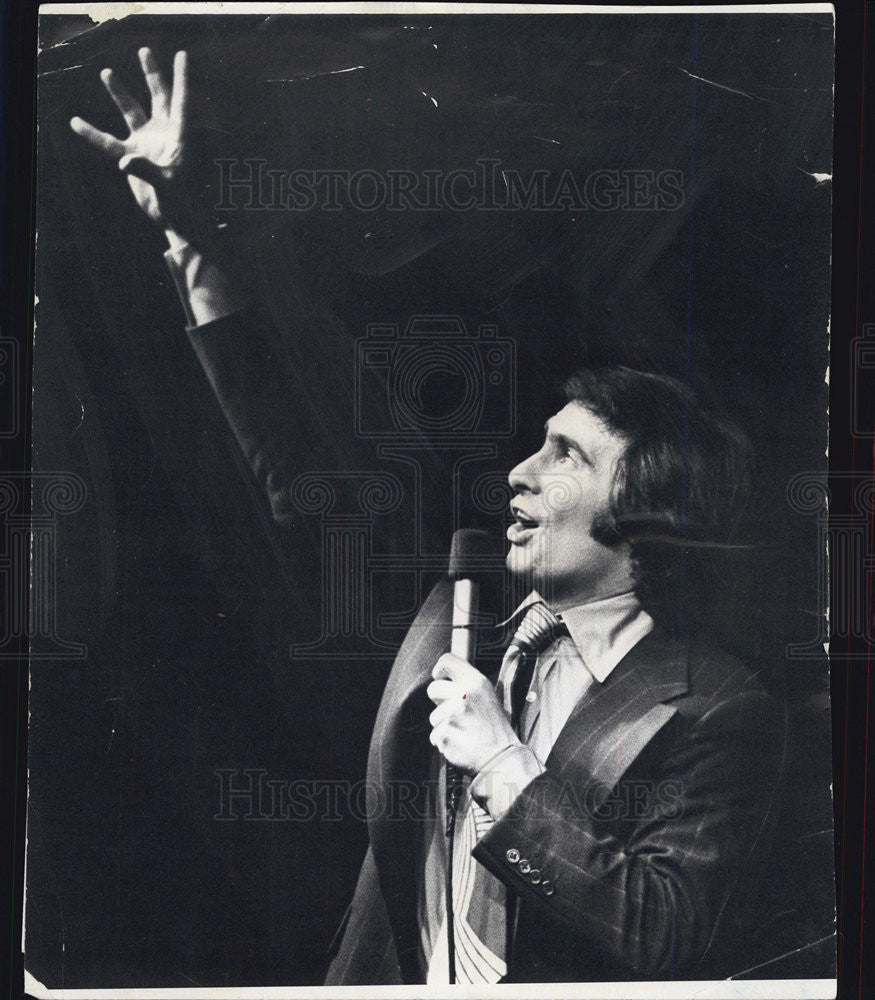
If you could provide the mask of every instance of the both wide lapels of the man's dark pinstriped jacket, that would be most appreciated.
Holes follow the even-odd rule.
[[[380,703],[368,755],[368,782],[392,795],[398,782],[421,782],[432,753],[430,703],[425,688],[432,668],[450,646],[453,589],[438,583],[408,632]],[[486,666],[484,664],[484,666]],[[686,646],[650,633],[617,665],[604,684],[593,684],[571,713],[547,760],[560,777],[583,769],[595,781],[598,808],[647,743],[676,709],[668,700],[687,690]],[[400,786],[397,786],[400,787]],[[377,811],[379,812],[379,811]],[[407,982],[420,977],[417,962],[416,858],[418,827],[376,815],[369,834],[380,888]]]

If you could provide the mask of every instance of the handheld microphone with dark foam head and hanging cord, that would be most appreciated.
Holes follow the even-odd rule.
[[[450,547],[449,577],[453,586],[453,633],[450,652],[468,663],[474,662],[477,649],[475,620],[480,604],[480,580],[492,553],[491,539],[487,532],[463,528],[453,535]],[[462,797],[462,772],[447,761],[447,870],[446,870],[446,919],[447,951],[449,953],[449,981],[456,981],[456,948],[453,927],[453,840],[456,813]]]

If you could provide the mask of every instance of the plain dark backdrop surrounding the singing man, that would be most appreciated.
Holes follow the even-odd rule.
[[[215,770],[361,778],[390,665],[351,660],[342,643],[333,659],[290,658],[318,634],[318,523],[271,523],[185,341],[160,237],[67,127],[81,114],[117,131],[98,72],[112,65],[133,86],[142,44],[165,65],[189,50],[198,141],[225,155],[683,171],[675,213],[239,213],[229,226],[269,310],[287,313],[290,284],[312,310],[320,382],[296,399],[315,415],[301,471],[399,471],[342,433],[349,406],[323,410],[344,387],[349,396],[366,325],[414,314],[494,323],[516,344],[520,430],[484,471],[535,445],[556,379],[584,362],[656,367],[724,400],[757,448],[746,519],[757,548],[731,567],[709,624],[786,697],[801,737],[786,796],[794,847],[776,861],[784,916],[752,945],[751,965],[828,934],[825,662],[785,649],[816,644],[822,604],[822,540],[786,488],[824,468],[831,190],[810,174],[831,172],[830,19],[82,27],[49,25],[40,66],[33,461],[88,485],[61,528],[57,622],[88,655],[33,665],[29,969],[68,987],[318,982],[364,824],[217,822]],[[310,79],[271,82],[293,77]],[[366,251],[363,227],[375,234]],[[338,322],[320,323],[322,309]],[[423,557],[444,551],[454,526],[445,458],[427,466]],[[465,496],[462,520],[488,521]],[[375,552],[413,551],[408,514],[375,520]],[[429,574],[383,581],[380,607],[409,611],[411,579],[416,592]],[[829,975],[829,953],[757,975]]]

